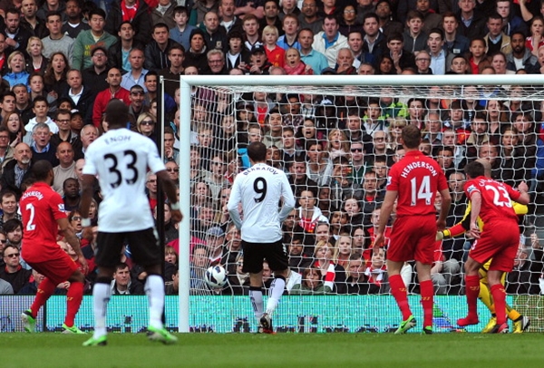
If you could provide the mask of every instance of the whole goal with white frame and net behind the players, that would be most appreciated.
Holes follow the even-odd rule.
[[[186,215],[180,224],[180,331],[256,331],[244,296],[249,280],[241,271],[240,234],[226,210],[233,180],[248,168],[246,148],[253,140],[267,145],[268,163],[287,172],[296,197],[283,224],[291,271],[275,315],[278,331],[391,330],[400,313],[389,293],[387,246],[374,257],[371,248],[387,172],[403,158],[399,139],[407,124],[422,129],[420,149],[448,179],[448,227],[466,211],[466,163],[489,160],[493,179],[514,188],[521,181],[529,185],[531,203],[518,208],[520,249],[506,290],[510,317],[529,316],[531,331],[544,330],[544,79],[276,75],[165,81],[174,82],[180,83],[179,118],[172,115],[166,125],[180,150]],[[455,330],[466,313],[462,265],[472,242],[463,234],[437,242],[432,281],[441,331]],[[228,282],[212,288],[204,275],[216,265],[227,270]],[[402,276],[415,313],[422,314],[413,262]],[[272,277],[265,264],[265,290]],[[487,324],[491,313],[481,302],[479,312],[481,324],[469,331]]]

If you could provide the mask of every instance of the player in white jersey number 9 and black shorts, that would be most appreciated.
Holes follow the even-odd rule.
[[[248,156],[252,166],[234,180],[228,213],[236,227],[241,229],[243,271],[249,273],[249,298],[259,320],[258,332],[273,334],[271,315],[284,292],[289,271],[281,224],[295,208],[295,198],[285,172],[266,164],[267,147],[263,143],[251,143]],[[280,200],[283,202],[281,210],[277,207]],[[238,212],[240,202],[243,220]],[[266,311],[263,311],[262,292],[264,259],[274,271]]]

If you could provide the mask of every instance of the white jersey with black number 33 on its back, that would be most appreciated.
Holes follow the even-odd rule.
[[[85,152],[83,174],[98,176],[102,202],[100,231],[119,233],[154,227],[145,195],[147,170],[165,169],[155,143],[128,129],[112,129]]]

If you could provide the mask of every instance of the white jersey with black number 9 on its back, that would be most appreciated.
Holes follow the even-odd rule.
[[[279,211],[277,206],[282,198]],[[240,202],[243,220],[238,212]],[[241,229],[242,240],[252,243],[273,243],[281,239],[281,223],[294,207],[295,198],[286,173],[264,163],[239,173],[228,199],[230,218]]]

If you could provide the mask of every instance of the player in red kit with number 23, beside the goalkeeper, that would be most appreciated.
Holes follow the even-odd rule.
[[[508,333],[506,323],[506,293],[500,278],[504,272],[510,272],[514,266],[518,246],[520,244],[520,228],[518,216],[512,207],[512,200],[529,204],[528,186],[522,182],[518,190],[508,184],[500,183],[484,176],[484,167],[474,161],[465,166],[467,182],[464,190],[471,199],[471,236],[476,240],[469,251],[465,262],[465,290],[469,314],[460,318],[457,324],[461,326],[478,324],[477,299],[480,294],[481,265],[491,260],[488,269],[488,283],[495,303],[497,316],[496,327],[491,333]],[[481,218],[485,227],[480,231],[477,219]]]

